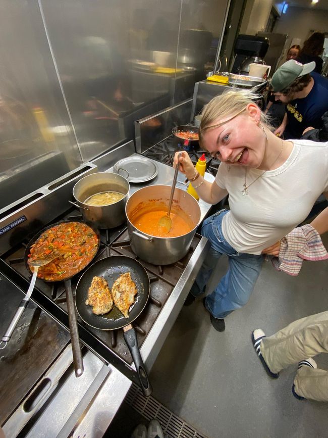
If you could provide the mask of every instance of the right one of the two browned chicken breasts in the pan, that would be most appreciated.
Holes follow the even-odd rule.
[[[129,318],[129,308],[134,303],[134,296],[137,294],[136,283],[132,281],[130,272],[121,274],[114,281],[112,296],[115,306]]]

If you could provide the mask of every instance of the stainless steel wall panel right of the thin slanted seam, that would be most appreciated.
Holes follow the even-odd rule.
[[[174,75],[148,67],[164,48],[170,64],[163,67],[175,64],[180,2],[40,4],[81,154],[89,160],[130,139],[150,102],[170,102]]]

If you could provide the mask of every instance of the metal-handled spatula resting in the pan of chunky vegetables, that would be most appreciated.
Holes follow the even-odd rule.
[[[31,283],[30,286],[27,290],[27,293],[25,295],[24,300],[21,301],[19,308],[17,309],[13,319],[11,320],[9,327],[6,331],[6,333],[4,334],[4,336],[1,339],[0,342],[0,350],[3,350],[8,342],[10,341],[10,338],[12,337],[13,331],[15,330],[15,327],[18,323],[18,321],[20,320],[20,317],[22,316],[24,310],[26,309],[28,302],[30,301],[33,289],[34,289],[34,285],[35,285],[35,281],[36,281],[36,276],[37,276],[37,272],[39,270],[40,266],[44,266],[47,265],[48,263],[50,263],[53,259],[56,259],[56,257],[59,257],[60,255],[62,255],[63,253],[51,253],[48,256],[45,256],[43,259],[38,259],[38,260],[34,260],[32,262],[30,262],[30,266],[34,267],[34,271],[33,271],[33,275],[32,275],[32,279],[31,279]],[[2,344],[4,343],[4,345],[2,346]]]

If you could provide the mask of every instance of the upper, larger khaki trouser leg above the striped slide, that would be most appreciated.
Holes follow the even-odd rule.
[[[328,311],[298,319],[263,338],[260,351],[273,373],[318,353],[328,353]]]

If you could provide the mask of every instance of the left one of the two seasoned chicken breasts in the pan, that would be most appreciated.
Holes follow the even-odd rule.
[[[103,315],[113,308],[113,298],[107,281],[102,277],[93,277],[85,304],[92,306],[95,315]]]

